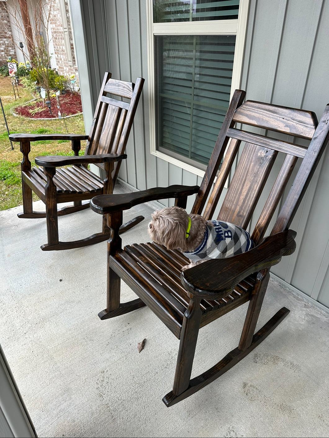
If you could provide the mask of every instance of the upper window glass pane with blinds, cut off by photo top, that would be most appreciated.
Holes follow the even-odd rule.
[[[153,0],[154,23],[237,19],[239,0]]]

